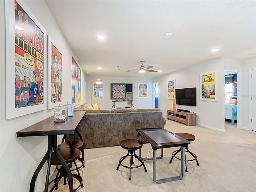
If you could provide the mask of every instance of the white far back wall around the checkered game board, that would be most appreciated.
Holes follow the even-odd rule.
[[[92,99],[92,104],[97,103],[100,109],[110,109],[113,102],[110,100],[110,83],[132,84],[133,105],[138,108],[153,108],[153,85],[152,78],[127,78],[127,77],[105,77],[105,76],[86,76],[86,102],[91,103],[92,85],[96,79],[100,78],[105,85],[105,98]],[[138,83],[148,84],[148,98],[138,98]],[[129,106],[127,102],[116,102],[116,107]]]

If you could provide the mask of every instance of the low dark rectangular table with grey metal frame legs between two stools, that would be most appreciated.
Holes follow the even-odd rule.
[[[153,182],[154,184],[160,184],[170,181],[182,180],[184,179],[184,162],[185,162],[185,147],[190,144],[188,140],[181,138],[173,134],[172,132],[164,128],[146,128],[146,129],[136,129],[138,135],[144,137],[152,146],[153,158],[144,158],[143,160],[153,160]],[[181,158],[180,158],[180,176],[174,176],[170,178],[163,178],[156,180],[156,159],[162,159],[163,149],[169,147],[181,147]],[[161,156],[156,157],[156,151],[161,149]],[[139,156],[141,156],[141,149],[139,149]]]

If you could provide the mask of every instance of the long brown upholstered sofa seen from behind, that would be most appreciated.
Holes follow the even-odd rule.
[[[160,109],[88,110],[88,104],[83,104],[74,111],[86,111],[78,127],[84,148],[116,146],[124,139],[138,139],[136,129],[163,128],[166,124]]]

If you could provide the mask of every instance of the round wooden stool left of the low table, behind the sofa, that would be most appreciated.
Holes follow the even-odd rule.
[[[129,180],[131,179],[131,170],[134,168],[138,168],[140,166],[144,167],[145,172],[147,172],[146,166],[144,165],[144,160],[143,158],[141,158],[140,156],[137,156],[135,153],[135,150],[138,150],[140,148],[142,148],[142,141],[140,140],[136,140],[136,139],[126,139],[126,140],[122,140],[120,142],[120,146],[126,150],[128,150],[128,153],[126,154],[126,156],[123,156],[122,158],[120,158],[119,160],[119,164],[116,168],[116,170],[119,169],[119,166],[122,165],[123,167],[126,167],[128,169],[130,169],[130,176],[129,176]],[[130,166],[125,166],[124,164],[122,164],[122,162],[128,157],[130,156]],[[133,157],[136,158],[137,160],[140,161],[140,164],[138,166],[132,166],[134,164],[133,161]]]

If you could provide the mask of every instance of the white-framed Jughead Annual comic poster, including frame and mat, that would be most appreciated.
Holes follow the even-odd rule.
[[[23,1],[5,2],[6,119],[46,109],[46,30]]]

